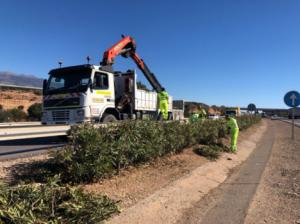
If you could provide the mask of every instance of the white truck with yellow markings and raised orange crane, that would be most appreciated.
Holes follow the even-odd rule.
[[[164,88],[136,53],[136,43],[124,37],[103,54],[100,65],[60,67],[43,82],[42,124],[108,123],[126,119],[160,119],[158,92]],[[136,70],[114,71],[116,56],[130,57],[153,91],[139,89]],[[175,113],[176,111],[176,113]],[[169,96],[168,119],[178,119]]]

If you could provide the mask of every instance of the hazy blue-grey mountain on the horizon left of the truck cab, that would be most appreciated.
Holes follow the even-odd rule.
[[[37,78],[33,75],[23,75],[15,74],[13,72],[0,71],[0,84],[42,88],[43,79]]]

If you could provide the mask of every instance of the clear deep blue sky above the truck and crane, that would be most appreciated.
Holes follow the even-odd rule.
[[[2,0],[0,71],[98,64],[123,33],[176,99],[284,108],[300,91],[299,12],[297,0]]]

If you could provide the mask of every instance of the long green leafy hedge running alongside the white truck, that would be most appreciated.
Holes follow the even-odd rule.
[[[238,118],[241,130],[259,117]],[[179,153],[196,144],[217,145],[226,135],[223,119],[189,124],[155,121],[126,121],[95,128],[84,124],[72,127],[71,140],[54,158],[65,182],[93,182],[169,153]]]

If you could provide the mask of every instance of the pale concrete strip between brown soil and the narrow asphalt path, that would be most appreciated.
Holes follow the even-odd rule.
[[[196,168],[105,223],[176,223],[186,209],[223,183],[230,170],[249,157],[266,129],[267,124],[262,121],[255,133],[239,142],[237,154],[224,153],[216,162]]]

